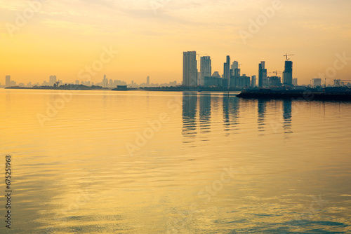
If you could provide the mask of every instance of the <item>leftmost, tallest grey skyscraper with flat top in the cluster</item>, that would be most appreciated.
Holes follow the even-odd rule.
[[[197,53],[183,52],[183,85],[197,86]]]

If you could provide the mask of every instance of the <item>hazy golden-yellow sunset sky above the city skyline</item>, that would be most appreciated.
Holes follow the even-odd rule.
[[[289,53],[299,84],[333,83],[351,79],[350,15],[350,0],[0,0],[0,83],[181,82],[188,50],[247,76]]]

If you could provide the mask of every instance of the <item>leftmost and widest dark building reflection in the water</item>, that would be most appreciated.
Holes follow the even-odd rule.
[[[197,135],[197,93],[183,92],[183,136]]]

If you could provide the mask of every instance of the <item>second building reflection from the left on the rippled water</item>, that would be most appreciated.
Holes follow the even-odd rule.
[[[199,125],[201,133],[211,132],[211,94],[199,96]]]

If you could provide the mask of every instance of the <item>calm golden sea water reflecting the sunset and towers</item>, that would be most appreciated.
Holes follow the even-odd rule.
[[[1,233],[351,233],[351,103],[0,89],[0,113]]]

